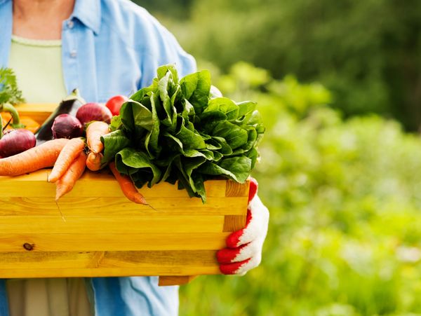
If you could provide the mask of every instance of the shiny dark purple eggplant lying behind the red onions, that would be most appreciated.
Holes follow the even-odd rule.
[[[77,89],[73,90],[70,95],[65,97],[65,99],[62,99],[62,102],[60,102],[57,109],[55,109],[55,111],[50,116],[48,116],[44,124],[41,125],[38,131],[36,131],[36,145],[53,139],[52,128],[56,117],[61,114],[69,114],[71,116],[75,116],[79,107],[85,103],[85,100],[81,98]]]

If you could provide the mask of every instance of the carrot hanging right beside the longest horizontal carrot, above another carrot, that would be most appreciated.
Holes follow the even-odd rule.
[[[57,161],[55,161],[53,170],[51,170],[51,174],[48,176],[48,182],[55,182],[60,179],[72,164],[73,160],[79,156],[79,153],[83,151],[84,148],[85,142],[83,142],[81,138],[69,139],[69,142],[67,142],[66,146],[60,151]]]

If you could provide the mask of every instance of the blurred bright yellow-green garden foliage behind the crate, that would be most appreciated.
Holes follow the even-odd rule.
[[[269,233],[259,268],[182,287],[180,315],[421,315],[419,137],[248,64],[217,82],[267,127],[254,176]]]

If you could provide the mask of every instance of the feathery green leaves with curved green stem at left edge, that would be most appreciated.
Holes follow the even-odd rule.
[[[9,112],[13,118],[12,128],[24,128],[20,123],[18,111],[13,104],[24,102],[22,92],[18,89],[16,76],[10,68],[0,68],[0,112]]]

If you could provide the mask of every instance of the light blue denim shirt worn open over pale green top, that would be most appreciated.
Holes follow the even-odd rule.
[[[12,0],[0,0],[0,67],[11,48]],[[145,9],[128,0],[76,0],[62,24],[62,68],[67,92],[79,88],[87,102],[131,95],[152,83],[161,64],[180,76],[196,71],[192,56]],[[1,262],[0,262],[1,265]],[[177,315],[178,287],[158,287],[157,277],[87,279],[95,316]],[[0,280],[0,315],[8,315]]]

